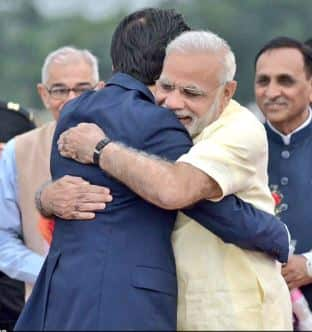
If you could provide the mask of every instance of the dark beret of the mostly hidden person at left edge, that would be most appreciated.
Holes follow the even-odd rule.
[[[34,129],[32,115],[19,104],[0,101],[0,142],[6,143],[16,135]]]

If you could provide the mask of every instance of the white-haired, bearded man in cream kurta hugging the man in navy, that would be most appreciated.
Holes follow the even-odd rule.
[[[155,99],[175,113],[194,147],[173,163],[108,141],[100,168],[165,209],[235,194],[273,213],[265,131],[231,100],[235,68],[234,54],[217,35],[190,31],[177,37],[166,49]],[[81,124],[61,135],[59,149],[65,157],[92,163],[94,147],[105,136],[95,124]],[[289,292],[274,258],[225,244],[182,214],[172,240],[179,330],[292,329]]]

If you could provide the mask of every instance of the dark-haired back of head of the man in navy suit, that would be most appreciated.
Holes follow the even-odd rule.
[[[113,71],[129,74],[146,85],[155,84],[166,46],[188,30],[183,16],[173,9],[147,8],[126,16],[112,37]]]

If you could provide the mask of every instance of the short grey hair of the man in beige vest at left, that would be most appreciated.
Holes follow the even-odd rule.
[[[49,78],[49,67],[52,63],[68,64],[73,60],[83,59],[92,69],[94,83],[99,82],[99,65],[98,59],[86,49],[78,49],[73,46],[64,46],[48,54],[44,60],[41,69],[41,82],[46,84]]]

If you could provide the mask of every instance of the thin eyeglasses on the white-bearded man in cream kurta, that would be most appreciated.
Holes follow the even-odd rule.
[[[157,88],[163,92],[163,93],[169,93],[174,91],[175,89],[178,89],[180,91],[180,93],[187,97],[187,98],[196,98],[196,97],[207,97],[209,96],[211,93],[213,93],[215,90],[217,90],[220,86],[224,85],[226,82],[224,83],[220,83],[218,86],[216,86],[215,89],[206,92],[203,91],[197,87],[193,87],[193,86],[178,86],[176,84],[171,83],[169,80],[167,79],[158,79],[156,81],[156,86]]]

